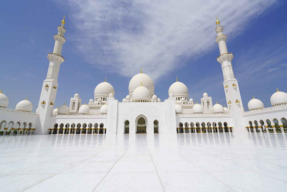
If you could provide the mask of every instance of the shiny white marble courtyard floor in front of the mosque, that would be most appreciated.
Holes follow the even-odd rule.
[[[0,191],[286,191],[286,136],[0,136]]]

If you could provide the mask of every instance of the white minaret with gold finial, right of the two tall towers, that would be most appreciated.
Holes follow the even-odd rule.
[[[239,85],[234,78],[231,61],[233,58],[232,53],[228,53],[226,46],[226,35],[224,35],[223,27],[219,25],[219,21],[216,16],[217,27],[215,32],[217,33],[216,43],[218,43],[220,55],[217,57],[217,61],[221,64],[223,73],[223,85],[225,90],[225,97],[228,109],[232,116],[234,131],[245,131],[242,113],[244,112],[241,95],[239,91]],[[228,125],[229,126],[229,125]]]

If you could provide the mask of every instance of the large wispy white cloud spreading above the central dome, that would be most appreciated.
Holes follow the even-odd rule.
[[[131,77],[140,67],[154,80],[214,46],[215,16],[236,36],[276,0],[70,0],[77,51],[87,62]]]

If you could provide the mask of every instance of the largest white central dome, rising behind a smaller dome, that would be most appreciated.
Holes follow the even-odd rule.
[[[154,92],[154,82],[152,81],[152,78],[144,73],[136,74],[131,78],[129,82],[129,92],[135,90],[139,85],[141,85],[141,83],[148,90]]]

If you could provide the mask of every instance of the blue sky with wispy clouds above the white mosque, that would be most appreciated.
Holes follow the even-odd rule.
[[[132,76],[150,75],[162,100],[175,82],[185,83],[189,98],[204,92],[226,105],[216,19],[227,35],[242,102],[287,92],[287,3],[285,1],[5,1],[1,2],[0,89],[8,108],[28,97],[35,112],[53,51],[57,26],[66,15],[55,107],[79,93],[82,104],[96,85],[113,85],[115,98],[128,94]]]

